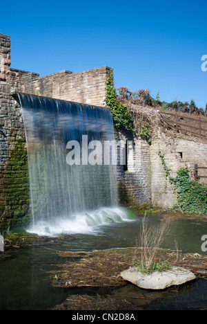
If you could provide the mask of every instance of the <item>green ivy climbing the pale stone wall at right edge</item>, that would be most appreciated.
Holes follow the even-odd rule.
[[[204,183],[198,183],[190,180],[188,168],[181,168],[177,171],[177,176],[174,178],[170,174],[170,169],[164,161],[164,154],[159,151],[161,163],[164,165],[166,177],[170,183],[175,186],[177,195],[177,204],[181,210],[188,213],[207,214],[207,186]]]

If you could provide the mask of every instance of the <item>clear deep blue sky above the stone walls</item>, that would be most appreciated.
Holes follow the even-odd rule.
[[[207,1],[3,1],[12,68],[47,75],[99,66],[116,87],[206,107]]]

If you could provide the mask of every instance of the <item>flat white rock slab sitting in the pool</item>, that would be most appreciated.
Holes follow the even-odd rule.
[[[121,278],[132,282],[144,289],[165,289],[172,285],[182,285],[185,282],[196,278],[193,272],[180,267],[173,267],[168,271],[153,272],[152,274],[144,274],[135,267],[126,269],[121,272]]]

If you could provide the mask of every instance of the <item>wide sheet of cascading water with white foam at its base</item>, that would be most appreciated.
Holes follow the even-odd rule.
[[[18,96],[28,148],[33,216],[29,231],[87,233],[100,224],[128,219],[117,205],[115,165],[88,163],[83,156],[91,141],[114,139],[110,109],[24,93]],[[77,164],[67,163],[72,152],[69,141],[70,149],[79,143],[79,152],[73,154],[75,159],[80,153]]]

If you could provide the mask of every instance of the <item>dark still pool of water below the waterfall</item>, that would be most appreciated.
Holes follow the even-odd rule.
[[[159,219],[159,215],[150,216],[150,223],[156,225]],[[0,263],[0,309],[50,309],[62,303],[69,294],[80,294],[80,289],[50,286],[50,274],[46,270],[54,270],[62,263],[57,251],[93,251],[135,246],[141,220],[142,216],[131,221],[100,226],[94,233],[78,234],[72,240],[12,251],[12,258]],[[207,222],[176,219],[170,224],[168,237],[162,247],[175,249],[176,240],[178,248],[184,253],[206,254],[201,251],[203,235],[207,235]],[[154,303],[153,307],[174,309],[181,307],[181,300],[183,307],[191,307],[190,309],[207,304],[207,280],[197,280],[190,286],[190,291],[180,291],[179,294],[165,296],[164,300]]]

